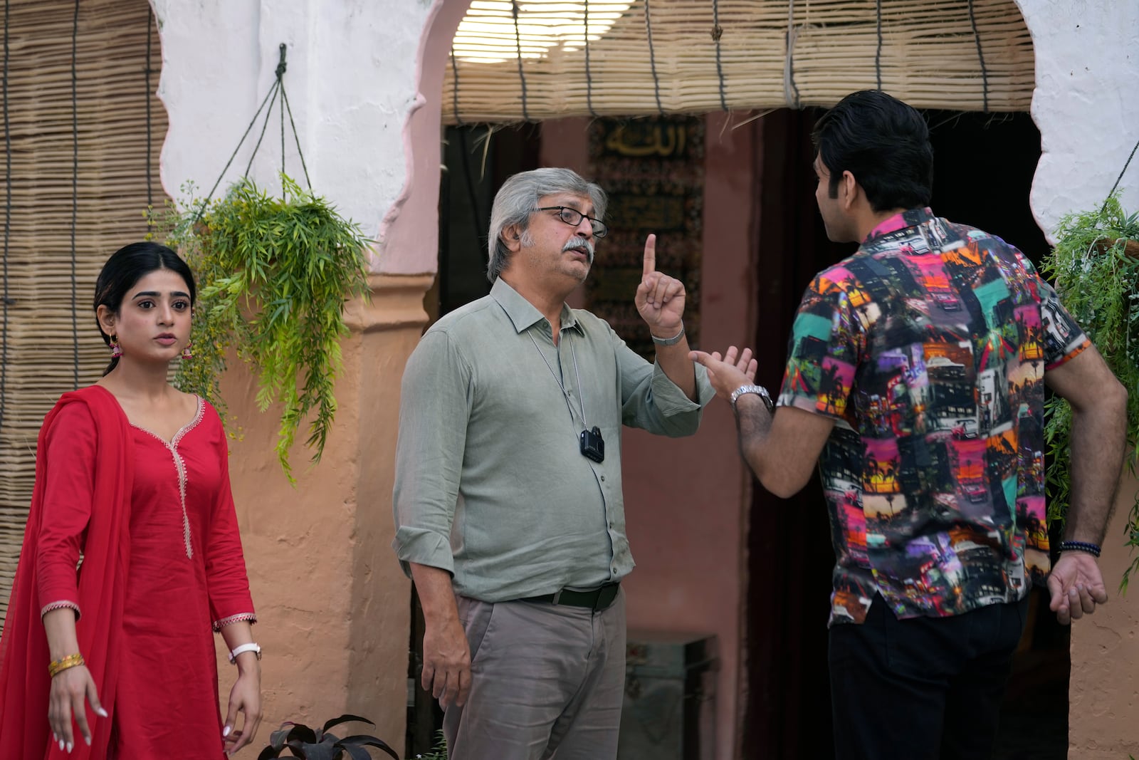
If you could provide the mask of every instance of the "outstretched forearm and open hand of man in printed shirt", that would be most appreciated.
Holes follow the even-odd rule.
[[[730,346],[723,357],[719,352],[703,351],[693,351],[690,356],[693,361],[707,368],[712,387],[726,401],[730,402],[736,389],[751,385],[755,378],[751,349],[740,353],[736,346]],[[755,477],[780,498],[797,493],[811,480],[822,447],[835,426],[834,418],[794,407],[780,407],[778,414],[769,412],[763,400],[754,393],[740,395],[735,411],[739,451]]]

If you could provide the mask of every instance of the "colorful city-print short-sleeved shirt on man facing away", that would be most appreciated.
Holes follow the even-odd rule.
[[[1000,238],[913,209],[806,289],[779,404],[837,419],[820,457],[830,624],[1013,602],[1050,569],[1044,370],[1083,330]]]

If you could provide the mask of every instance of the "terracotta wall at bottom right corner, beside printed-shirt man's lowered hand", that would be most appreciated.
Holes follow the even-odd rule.
[[[1132,389],[1134,392],[1134,389]],[[1115,499],[1099,567],[1111,595],[1106,605],[1072,627],[1072,678],[1068,686],[1068,757],[1120,760],[1139,757],[1139,578],[1131,590],[1117,590],[1134,558],[1123,545],[1126,518],[1139,480],[1125,475]]]

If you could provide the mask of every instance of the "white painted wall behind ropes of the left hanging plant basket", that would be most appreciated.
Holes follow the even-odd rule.
[[[180,187],[188,180],[199,197],[210,191],[269,92],[278,44],[285,42],[285,89],[313,190],[358,222],[366,236],[377,238],[384,214],[408,179],[400,136],[416,101],[417,52],[431,0],[151,3],[162,38],[158,95],[170,119],[162,152],[166,193],[185,197]],[[303,187],[287,120],[285,126],[286,172]],[[226,172],[219,194],[241,175],[260,130],[261,120]],[[279,191],[280,165],[274,106],[249,174]],[[434,247],[427,254],[434,261]],[[383,255],[374,268],[416,269]]]

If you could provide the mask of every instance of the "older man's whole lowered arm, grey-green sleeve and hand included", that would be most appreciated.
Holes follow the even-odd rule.
[[[393,547],[424,610],[421,683],[445,708],[470,689],[470,647],[459,621],[450,533],[470,415],[469,365],[443,332],[429,332],[408,360],[400,392]]]

